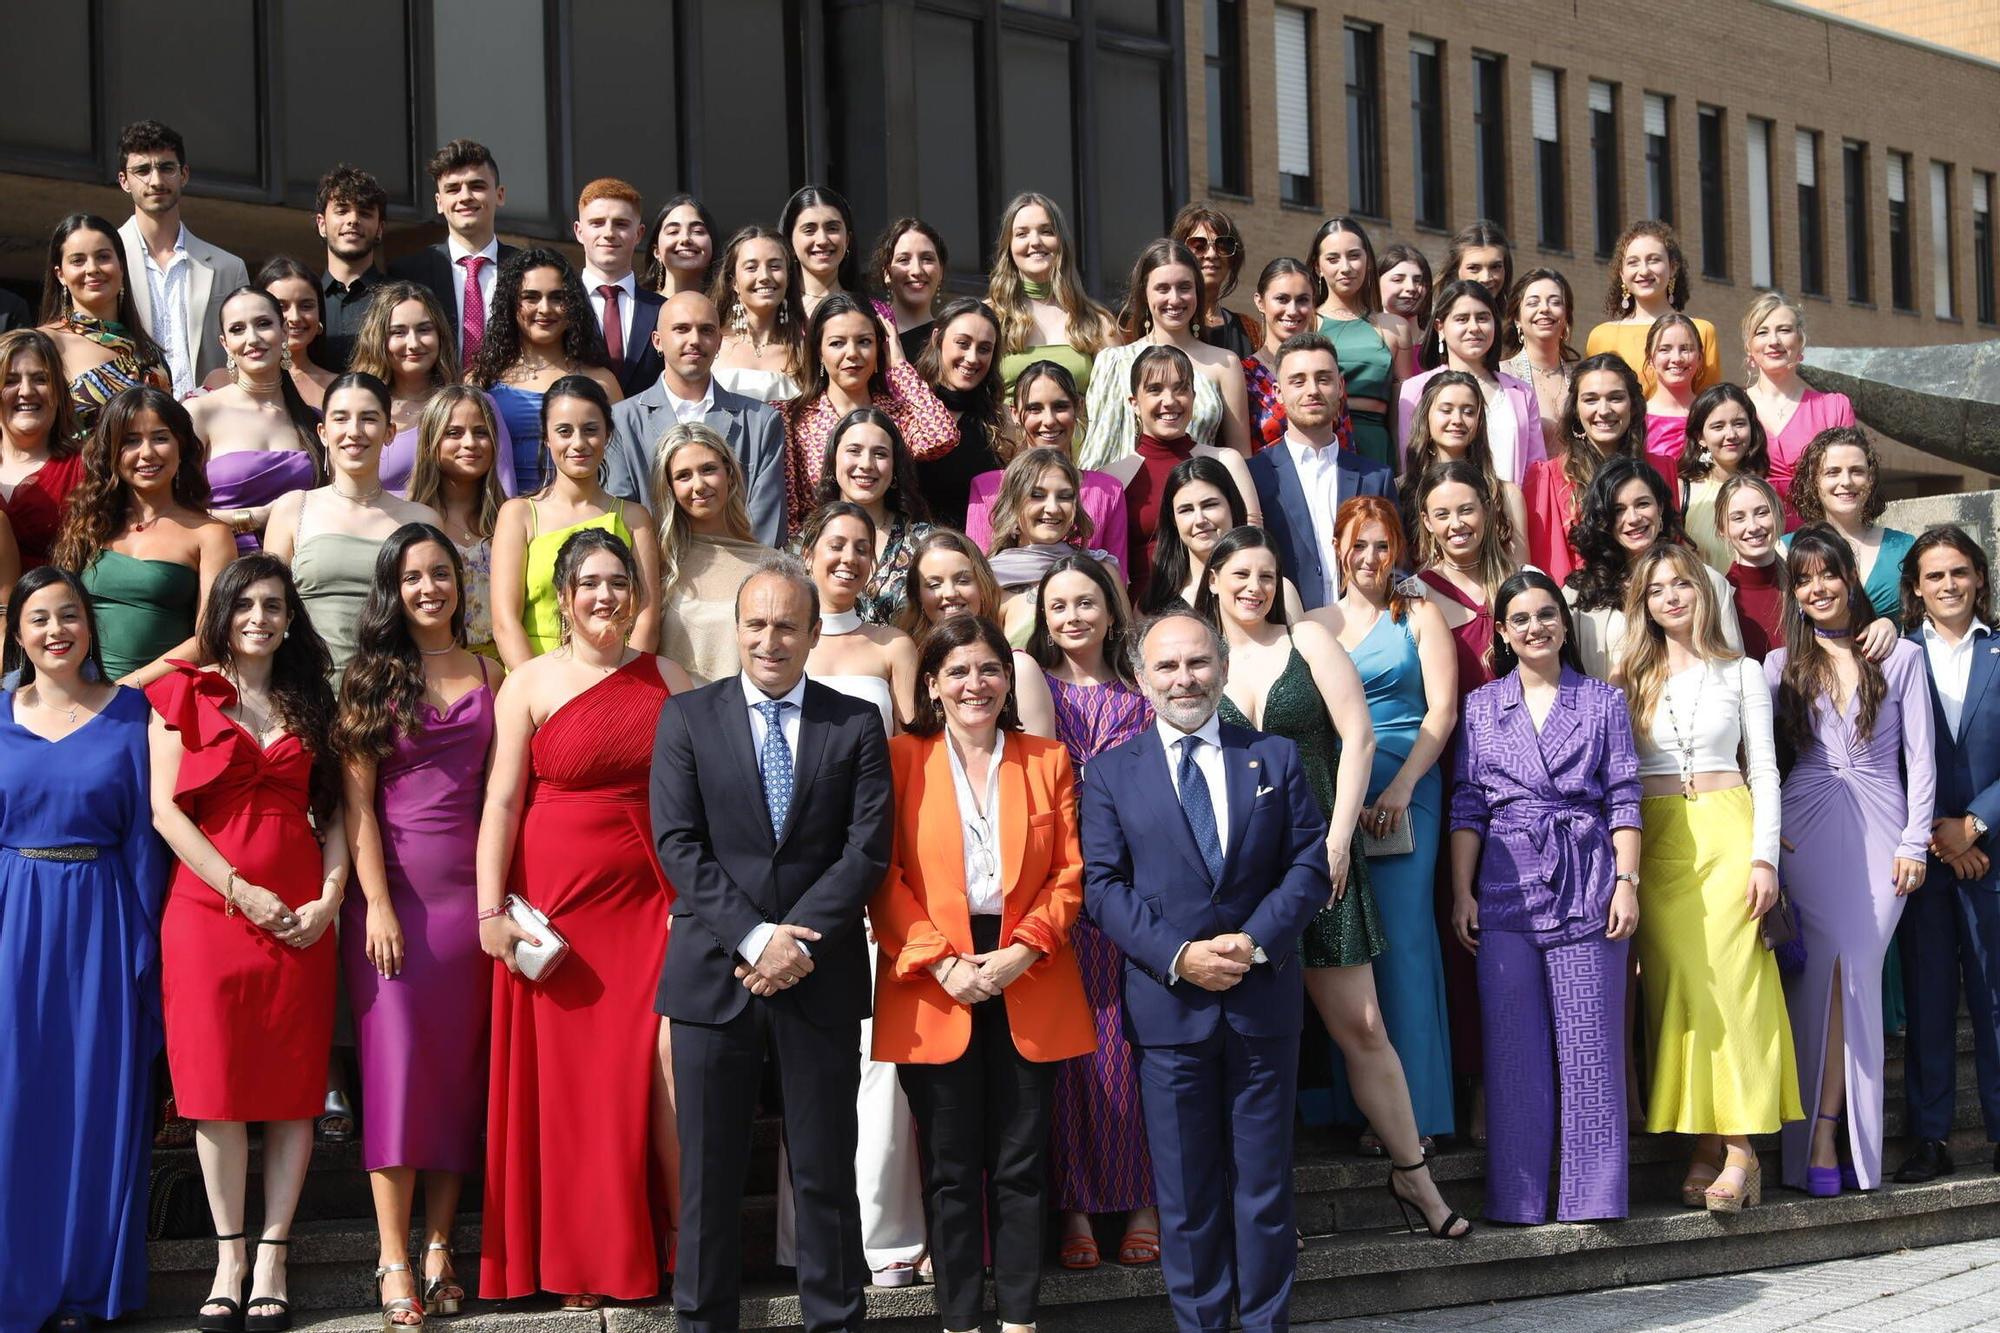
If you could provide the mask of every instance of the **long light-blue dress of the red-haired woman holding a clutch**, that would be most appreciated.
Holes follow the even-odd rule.
[[[1376,729],[1374,769],[1368,773],[1368,801],[1374,803],[1402,771],[1416,733],[1424,723],[1424,669],[1408,620],[1386,612],[1354,644],[1354,671],[1368,693],[1368,717]],[[1370,857],[1376,911],[1388,933],[1388,949],[1374,961],[1376,999],[1390,1045],[1402,1057],[1410,1083],[1416,1133],[1452,1133],[1452,1039],[1444,1015],[1444,963],[1438,955],[1438,921],[1432,911],[1438,841],[1442,837],[1444,783],[1438,767],[1418,779],[1410,795],[1414,851],[1400,857]],[[1366,1117],[1354,1105],[1346,1065],[1334,1051],[1334,1119],[1360,1125]]]

